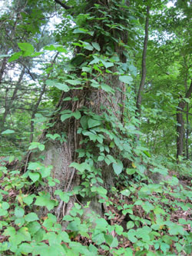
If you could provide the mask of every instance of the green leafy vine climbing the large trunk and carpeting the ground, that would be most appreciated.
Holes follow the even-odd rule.
[[[134,37],[133,9],[116,1],[90,9],[74,18],[75,55],[65,62],[65,72],[64,63],[58,62],[46,81],[56,99],[61,95],[60,101],[43,140],[28,148],[38,155],[48,141],[68,142],[72,124],[71,176],[65,190],[55,190],[62,181],[51,175],[54,166],[43,165],[41,158],[31,158],[25,173],[0,167],[0,251],[46,256],[190,254],[192,223],[181,214],[174,216],[177,224],[172,212],[191,209],[192,191],[176,177],[166,180],[164,163],[135,140],[142,134],[134,117],[133,49],[122,38],[122,32]],[[10,61],[35,55],[29,43],[18,46],[22,51]],[[45,50],[68,52],[62,45]],[[161,175],[160,184],[152,181],[156,175]],[[73,185],[74,178],[78,182]],[[47,186],[52,192],[41,189]],[[95,198],[103,215],[86,211]]]

